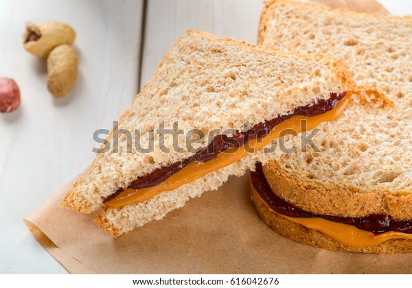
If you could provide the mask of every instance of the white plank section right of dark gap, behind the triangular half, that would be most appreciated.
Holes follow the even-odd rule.
[[[146,12],[141,84],[146,84],[163,54],[187,30],[256,43],[263,0],[149,0]]]

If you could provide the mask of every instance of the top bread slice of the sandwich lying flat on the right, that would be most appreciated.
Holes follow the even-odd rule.
[[[412,219],[412,18],[268,1],[258,42],[345,59],[358,84],[384,91],[397,108],[320,125],[321,152],[298,149],[264,167],[273,191],[313,213]]]

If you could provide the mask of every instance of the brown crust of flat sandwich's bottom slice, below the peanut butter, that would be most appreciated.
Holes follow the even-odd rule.
[[[262,200],[262,197],[251,189],[251,200],[255,204],[256,209],[264,223],[270,226],[273,230],[289,239],[299,243],[311,245],[318,248],[342,252],[364,252],[364,253],[410,253],[412,252],[412,240],[407,239],[390,239],[383,243],[368,247],[351,247],[340,243],[323,234],[318,230],[308,229],[299,224],[275,213]]]

